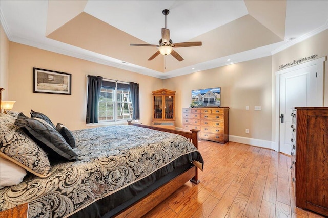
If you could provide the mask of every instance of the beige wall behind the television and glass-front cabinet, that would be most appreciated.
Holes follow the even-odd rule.
[[[221,106],[230,107],[229,134],[271,141],[271,67],[271,57],[264,57],[166,79],[164,88],[176,91],[177,127],[182,128],[182,108],[189,107],[191,90],[221,87]]]

